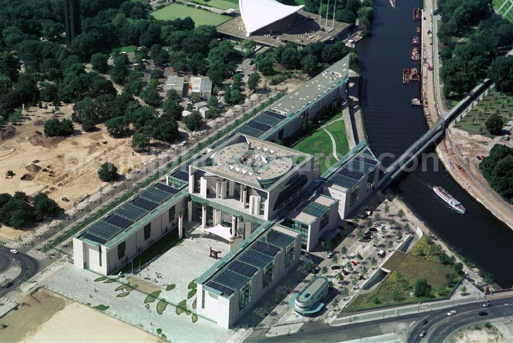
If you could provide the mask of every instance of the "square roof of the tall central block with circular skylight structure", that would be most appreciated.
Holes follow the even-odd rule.
[[[193,166],[264,189],[294,173],[299,163],[312,158],[312,155],[239,133],[216,146]]]

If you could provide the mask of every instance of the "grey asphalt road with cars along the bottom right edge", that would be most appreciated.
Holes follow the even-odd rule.
[[[511,305],[505,306],[504,303],[510,303]],[[493,306],[488,308],[484,308],[481,302],[455,306],[452,309],[455,309],[458,313],[451,317],[447,316],[447,312],[451,309],[441,309],[342,326],[330,326],[324,323],[324,321],[315,321],[305,323],[299,332],[291,333],[290,335],[267,337],[265,330],[256,330],[245,341],[340,342],[391,334],[394,331],[396,333],[410,331],[407,339],[408,342],[441,342],[451,332],[456,331],[462,326],[483,323],[492,318],[503,317],[505,313],[506,315],[513,315],[513,297],[501,299],[501,301],[492,301],[492,304]],[[480,317],[478,316],[480,311],[486,311],[488,315]],[[425,326],[420,324],[423,319],[428,320]],[[419,336],[422,330],[427,331],[427,335],[424,337]]]

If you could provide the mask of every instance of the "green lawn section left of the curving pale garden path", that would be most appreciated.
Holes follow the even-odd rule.
[[[315,131],[298,144],[292,146],[292,148],[303,153],[314,155],[315,161],[320,163],[321,174],[336,162],[333,157],[331,139],[323,130]]]

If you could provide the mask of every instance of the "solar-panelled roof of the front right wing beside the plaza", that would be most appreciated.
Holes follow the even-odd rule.
[[[231,297],[272,263],[281,250],[293,244],[298,235],[290,229],[266,222],[198,277],[196,283],[204,285],[209,292]]]

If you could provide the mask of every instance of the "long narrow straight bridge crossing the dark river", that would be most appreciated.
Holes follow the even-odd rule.
[[[390,181],[397,178],[404,170],[412,170],[417,167],[419,156],[431,145],[435,144],[445,133],[445,128],[456,118],[467,106],[478,98],[491,84],[490,79],[485,79],[477,85],[468,95],[463,98],[454,108],[452,108],[444,117],[440,118],[422,137],[413,143],[406,151],[395,161],[392,162],[382,173],[378,181],[378,187],[386,187]]]

